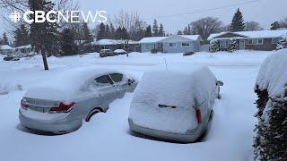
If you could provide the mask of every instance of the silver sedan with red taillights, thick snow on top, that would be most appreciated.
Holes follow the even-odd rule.
[[[122,72],[80,68],[64,72],[28,89],[21,101],[20,122],[34,131],[67,133],[81,127],[83,120],[106,112],[109,103],[137,85]]]

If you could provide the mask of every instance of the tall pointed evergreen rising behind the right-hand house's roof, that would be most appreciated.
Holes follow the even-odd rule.
[[[245,24],[243,20],[243,15],[238,9],[237,12],[234,14],[232,22],[230,24],[230,31],[236,32],[236,31],[242,31],[245,29]]]

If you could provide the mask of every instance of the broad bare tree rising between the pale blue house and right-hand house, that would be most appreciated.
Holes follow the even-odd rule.
[[[222,30],[222,21],[214,17],[205,17],[191,22],[190,25],[192,33],[200,35],[204,41],[207,40],[210,34]]]

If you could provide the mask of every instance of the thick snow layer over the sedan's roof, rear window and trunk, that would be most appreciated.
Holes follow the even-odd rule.
[[[27,90],[24,97],[69,101],[80,95],[85,83],[102,74],[119,72],[117,70],[81,67],[61,72],[53,78]],[[120,72],[123,73],[123,72]],[[80,93],[79,93],[80,92]],[[83,92],[84,93],[84,92]]]

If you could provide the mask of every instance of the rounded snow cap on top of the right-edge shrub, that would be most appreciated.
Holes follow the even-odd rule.
[[[256,85],[267,89],[269,97],[283,97],[287,84],[287,49],[269,55],[261,65]]]

